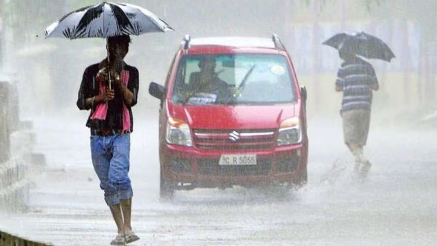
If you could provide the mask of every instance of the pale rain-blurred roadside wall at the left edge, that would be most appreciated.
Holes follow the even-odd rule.
[[[26,211],[30,182],[26,178],[35,136],[20,123],[16,83],[0,81],[0,211]]]

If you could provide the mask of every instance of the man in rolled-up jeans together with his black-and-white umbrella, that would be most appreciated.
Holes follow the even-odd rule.
[[[91,154],[104,200],[117,225],[111,245],[139,239],[130,223],[132,187],[128,176],[132,110],[138,98],[138,70],[124,62],[130,36],[173,29],[155,14],[128,3],[103,1],[75,10],[45,30],[46,37],[106,38],[107,57],[88,66],[79,88],[77,107],[91,110]]]

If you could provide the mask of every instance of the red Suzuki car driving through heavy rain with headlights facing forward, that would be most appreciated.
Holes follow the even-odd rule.
[[[183,39],[159,113],[160,196],[196,187],[305,184],[306,90],[279,37]]]

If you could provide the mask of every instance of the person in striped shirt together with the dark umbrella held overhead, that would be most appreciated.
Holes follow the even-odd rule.
[[[337,34],[323,42],[339,51],[344,61],[337,73],[335,90],[343,92],[342,109],[343,139],[355,157],[355,173],[364,180],[372,167],[363,154],[370,125],[372,90],[379,89],[375,69],[357,55],[390,61],[394,54],[379,38],[361,32],[354,35]]]

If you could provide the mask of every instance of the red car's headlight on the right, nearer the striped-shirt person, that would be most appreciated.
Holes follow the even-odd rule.
[[[302,141],[302,130],[298,117],[284,120],[279,126],[278,146],[297,144]]]

